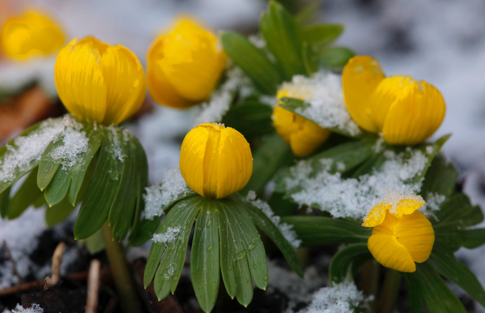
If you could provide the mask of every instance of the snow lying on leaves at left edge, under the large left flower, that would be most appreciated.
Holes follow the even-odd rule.
[[[57,140],[64,134],[70,136],[67,138],[65,146],[73,145],[78,147],[79,145],[79,149],[74,152],[65,151],[66,153],[63,154],[63,148],[61,148],[58,151],[59,154],[54,155],[56,157],[66,156],[68,158],[66,165],[74,164],[77,152],[82,150],[82,144],[76,142],[76,140],[81,139],[83,136],[82,134],[77,135],[74,133],[79,132],[81,127],[82,125],[71,115],[65,115],[63,118],[48,119],[42,122],[37,130],[27,136],[16,137],[14,145],[7,146],[3,162],[0,161],[0,181],[12,181],[17,171],[26,171],[31,167],[32,163],[39,162],[49,143]]]

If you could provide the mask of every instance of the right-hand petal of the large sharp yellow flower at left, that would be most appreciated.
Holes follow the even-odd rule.
[[[106,115],[103,124],[118,124],[136,113],[145,99],[145,74],[138,58],[123,46],[107,47],[102,54],[107,85]]]

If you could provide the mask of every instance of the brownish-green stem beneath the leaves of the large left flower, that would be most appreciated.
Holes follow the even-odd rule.
[[[108,226],[108,223],[101,227],[101,232],[122,311],[124,313],[142,313],[140,299],[125,259],[123,247],[119,242],[113,240],[113,228]]]

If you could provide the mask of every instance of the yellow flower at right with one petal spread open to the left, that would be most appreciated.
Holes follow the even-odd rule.
[[[441,125],[446,105],[435,86],[409,76],[386,77],[369,56],[350,59],[342,72],[345,104],[357,125],[384,134],[391,145],[415,145]]]

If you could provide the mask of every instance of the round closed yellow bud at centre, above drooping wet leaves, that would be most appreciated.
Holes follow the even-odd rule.
[[[251,149],[235,129],[205,123],[185,136],[180,151],[180,173],[199,195],[224,198],[241,190],[252,172]]]

